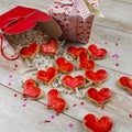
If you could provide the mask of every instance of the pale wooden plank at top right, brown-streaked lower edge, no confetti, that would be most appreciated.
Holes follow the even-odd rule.
[[[96,18],[95,24],[109,26],[132,33],[132,4],[113,0],[105,0],[99,6],[105,18]]]

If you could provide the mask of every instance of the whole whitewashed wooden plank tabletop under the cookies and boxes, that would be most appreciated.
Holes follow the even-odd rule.
[[[16,4],[44,10],[50,2],[0,0],[0,13]],[[105,105],[105,109],[101,110],[87,99],[64,95],[69,109],[56,116],[53,110],[46,109],[45,98],[38,101],[25,100],[21,88],[0,85],[0,132],[85,132],[82,117],[87,113],[109,116],[113,120],[112,132],[132,132],[132,97],[117,86],[119,77],[132,77],[132,1],[103,0],[99,8],[105,19],[95,19],[89,44],[96,43],[109,52],[106,59],[96,62],[97,69],[105,68],[109,73],[102,87],[109,87],[113,91],[113,97]],[[1,84],[3,79],[7,78],[0,78]]]

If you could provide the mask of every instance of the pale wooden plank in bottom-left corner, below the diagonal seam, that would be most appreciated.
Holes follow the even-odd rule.
[[[21,95],[0,86],[0,131],[84,132],[84,127],[63,113],[56,116],[44,105],[24,100]]]

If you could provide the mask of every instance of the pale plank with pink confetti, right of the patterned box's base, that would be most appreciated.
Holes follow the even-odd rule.
[[[97,64],[132,75],[132,34],[95,25],[89,41],[92,43],[108,51],[108,56]]]

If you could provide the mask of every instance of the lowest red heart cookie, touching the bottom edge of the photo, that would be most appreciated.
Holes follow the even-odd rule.
[[[112,129],[112,120],[109,117],[97,119],[94,114],[86,114],[82,122],[90,132],[110,132]]]

